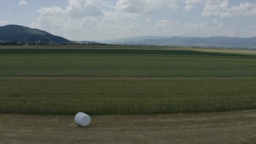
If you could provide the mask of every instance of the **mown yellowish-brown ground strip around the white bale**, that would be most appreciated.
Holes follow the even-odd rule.
[[[91,118],[0,114],[0,143],[256,143],[256,110]]]

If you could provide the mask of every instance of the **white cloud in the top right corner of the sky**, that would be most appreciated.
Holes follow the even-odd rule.
[[[229,8],[229,1],[207,0],[202,11],[202,16],[253,16],[256,15],[256,4],[240,3],[240,5]]]

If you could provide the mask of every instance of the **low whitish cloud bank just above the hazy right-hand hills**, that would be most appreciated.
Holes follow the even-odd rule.
[[[150,29],[149,33],[147,29]],[[245,33],[246,32],[246,33]],[[196,36],[196,37],[211,37],[211,36],[228,36],[228,37],[255,37],[256,25],[247,26],[245,28],[237,28],[225,26],[217,19],[213,19],[212,25],[206,22],[199,23],[181,23],[168,19],[159,20],[155,26],[147,27],[138,31],[142,35],[161,35],[161,36]]]

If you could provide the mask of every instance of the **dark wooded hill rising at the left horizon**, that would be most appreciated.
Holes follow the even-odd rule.
[[[42,31],[19,25],[7,25],[0,27],[0,41],[16,41],[20,43],[31,43],[39,41],[40,43],[71,43],[69,40]]]

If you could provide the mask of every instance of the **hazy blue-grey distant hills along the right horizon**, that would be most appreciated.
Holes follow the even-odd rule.
[[[234,47],[256,49],[256,37],[132,37],[105,41],[109,44],[148,44],[170,46]]]

